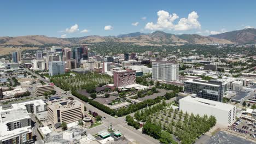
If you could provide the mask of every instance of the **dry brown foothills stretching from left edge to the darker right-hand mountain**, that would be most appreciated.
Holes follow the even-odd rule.
[[[175,35],[161,31],[155,31],[150,34],[140,32],[122,34],[115,36],[101,37],[90,35],[79,38],[50,38],[43,35],[27,35],[21,37],[0,37],[0,45],[77,45],[84,43],[133,43],[136,45],[161,45],[161,44],[230,44],[231,41],[212,37],[204,37],[197,34]]]

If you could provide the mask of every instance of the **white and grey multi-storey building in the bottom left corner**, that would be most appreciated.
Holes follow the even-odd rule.
[[[33,143],[31,118],[26,110],[1,107],[0,143]]]

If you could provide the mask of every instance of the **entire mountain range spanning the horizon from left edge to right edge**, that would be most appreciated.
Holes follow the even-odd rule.
[[[256,44],[256,29],[247,28],[240,31],[225,32],[208,37],[198,34],[170,34],[162,31],[153,33],[129,33],[117,36],[101,37],[90,35],[79,38],[52,38],[44,35],[27,35],[20,37],[0,37],[0,45],[77,45],[84,43],[132,43],[138,45],[181,45],[181,44]]]

